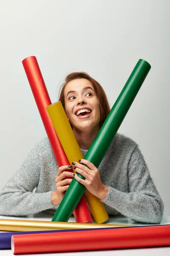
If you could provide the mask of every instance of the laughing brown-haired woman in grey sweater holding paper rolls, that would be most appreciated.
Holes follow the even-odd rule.
[[[85,155],[110,111],[105,92],[88,74],[71,73],[59,100]],[[117,133],[98,169],[83,159],[72,165],[85,180],[68,172],[72,166],[58,168],[48,138],[42,140],[0,192],[0,215],[54,214],[75,177],[103,201],[109,215],[124,215],[143,223],[161,222],[163,202],[139,146],[130,138]]]

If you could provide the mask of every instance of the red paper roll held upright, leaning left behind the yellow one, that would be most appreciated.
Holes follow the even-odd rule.
[[[54,156],[57,160],[58,166],[70,165],[68,158],[65,154],[64,149],[59,141],[57,133],[54,129],[54,126],[51,122],[51,118],[48,115],[46,107],[51,105],[51,100],[48,95],[47,88],[45,86],[44,79],[42,77],[40,67],[37,62],[37,58],[35,56],[30,56],[25,58],[23,61],[23,67],[26,72],[26,76],[28,78],[28,82],[30,84],[35,102],[37,104],[37,108],[40,112],[40,116],[45,127],[45,131],[47,133],[48,139],[51,144],[51,148],[53,150]],[[74,218],[76,222],[86,223],[92,222],[93,219],[91,217],[90,211],[86,204],[84,196],[82,196],[79,204],[74,210]]]

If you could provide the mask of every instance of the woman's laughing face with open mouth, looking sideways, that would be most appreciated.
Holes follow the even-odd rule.
[[[100,122],[99,101],[87,79],[70,81],[64,90],[65,112],[73,128],[90,132]]]

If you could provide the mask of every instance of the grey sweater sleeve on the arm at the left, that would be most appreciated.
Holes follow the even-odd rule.
[[[0,215],[26,216],[46,209],[51,204],[51,192],[34,193],[40,178],[40,145],[28,153],[23,164],[0,191]]]

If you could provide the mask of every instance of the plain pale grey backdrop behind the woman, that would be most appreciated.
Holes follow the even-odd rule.
[[[169,24],[169,0],[0,0],[0,188],[46,136],[24,58],[37,57],[52,102],[78,70],[111,106],[143,58],[152,68],[119,132],[140,145],[170,214]]]

